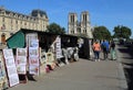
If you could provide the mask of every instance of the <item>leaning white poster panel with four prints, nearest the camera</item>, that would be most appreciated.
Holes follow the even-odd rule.
[[[7,75],[9,79],[9,86],[12,87],[19,83],[19,76],[17,72],[13,53],[12,49],[2,49],[2,52],[6,63]]]

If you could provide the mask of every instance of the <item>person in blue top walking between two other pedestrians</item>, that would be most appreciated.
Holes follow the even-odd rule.
[[[110,44],[106,40],[104,40],[101,44],[102,52],[103,52],[103,59],[106,60],[109,53],[110,53]]]

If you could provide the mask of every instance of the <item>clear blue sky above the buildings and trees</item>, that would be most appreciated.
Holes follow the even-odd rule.
[[[133,33],[133,0],[0,0],[7,10],[29,15],[33,9],[47,12],[49,23],[57,23],[68,32],[68,15],[82,11],[90,14],[91,26],[105,26],[113,34],[114,26],[123,25]],[[133,34],[132,34],[133,36]]]

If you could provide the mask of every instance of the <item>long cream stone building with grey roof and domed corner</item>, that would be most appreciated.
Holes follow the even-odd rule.
[[[30,15],[6,10],[0,7],[0,43],[20,29],[45,31],[49,25],[49,18],[42,10],[32,10]]]

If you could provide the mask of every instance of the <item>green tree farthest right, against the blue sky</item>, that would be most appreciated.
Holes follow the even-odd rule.
[[[130,36],[132,35],[131,29],[122,25],[115,26],[113,32],[114,32],[113,37],[117,38],[130,38]]]

